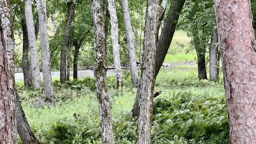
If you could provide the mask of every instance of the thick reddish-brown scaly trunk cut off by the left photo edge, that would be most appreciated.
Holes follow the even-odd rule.
[[[2,0],[0,1],[0,144],[17,143],[13,38],[10,2]]]

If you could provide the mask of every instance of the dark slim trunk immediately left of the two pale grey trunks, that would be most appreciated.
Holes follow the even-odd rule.
[[[22,8],[22,6],[20,6],[20,11],[22,15],[25,16],[25,11],[24,8]],[[21,27],[23,33],[22,70],[24,77],[24,85],[26,86],[26,88],[32,89],[33,82],[28,59],[28,30],[26,26],[26,20],[24,17],[21,18]]]

